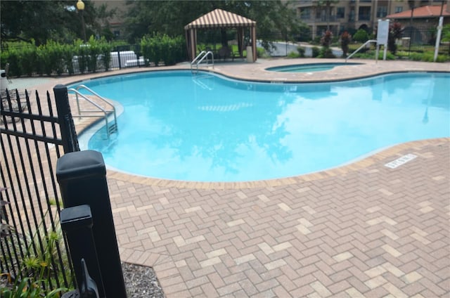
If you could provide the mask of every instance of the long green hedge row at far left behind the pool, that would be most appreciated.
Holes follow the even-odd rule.
[[[13,77],[96,72],[98,69],[108,70],[112,49],[113,46],[105,39],[96,40],[94,37],[86,44],[81,40],[73,44],[59,44],[56,41],[47,41],[41,46],[26,44],[1,51],[1,67],[9,63]]]

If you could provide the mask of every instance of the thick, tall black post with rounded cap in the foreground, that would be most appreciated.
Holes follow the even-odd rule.
[[[94,150],[67,153],[58,159],[56,179],[65,208],[91,207],[92,233],[105,297],[127,297],[103,156]]]

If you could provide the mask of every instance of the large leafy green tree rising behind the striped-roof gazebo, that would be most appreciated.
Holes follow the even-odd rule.
[[[300,33],[301,22],[289,1],[128,1],[127,5],[124,22],[129,42],[153,32],[184,35],[185,25],[216,8],[255,20],[258,38],[263,41],[274,34],[293,39]],[[224,43],[226,31],[220,34]]]

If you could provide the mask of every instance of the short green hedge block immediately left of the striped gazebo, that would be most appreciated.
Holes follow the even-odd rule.
[[[174,65],[186,60],[186,44],[184,39],[169,37],[166,34],[155,34],[153,37],[146,35],[141,39],[141,52],[146,66]]]

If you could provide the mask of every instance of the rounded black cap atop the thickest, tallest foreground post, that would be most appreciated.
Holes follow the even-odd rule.
[[[105,161],[98,151],[84,150],[66,153],[56,162],[58,182],[91,176],[106,176]]]

